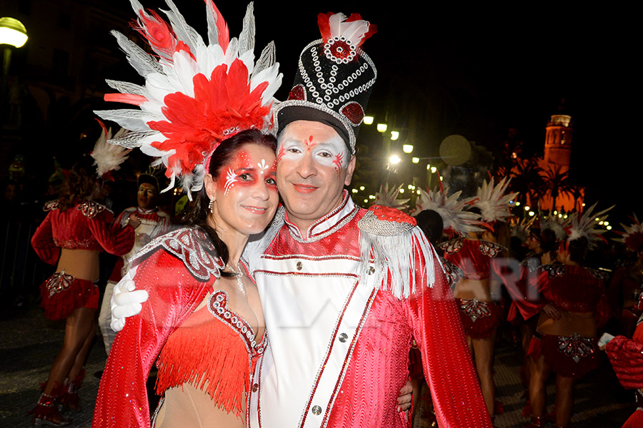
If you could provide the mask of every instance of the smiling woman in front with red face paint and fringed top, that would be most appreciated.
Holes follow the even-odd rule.
[[[159,355],[155,427],[244,427],[254,365],[266,346],[256,285],[239,264],[249,235],[273,218],[276,141],[237,134],[211,156],[189,224],[141,250],[139,315],[116,335],[94,427],[149,427],[146,379]],[[139,254],[141,254],[139,253]]]

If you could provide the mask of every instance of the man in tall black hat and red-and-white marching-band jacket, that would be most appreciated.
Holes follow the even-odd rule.
[[[250,426],[407,427],[397,396],[415,340],[439,425],[491,427],[432,245],[413,218],[359,208],[344,190],[377,76],[359,46],[375,28],[356,14],[320,14],[319,27],[275,111],[285,210],[244,251],[270,344],[256,366]],[[129,310],[117,308],[116,318]]]

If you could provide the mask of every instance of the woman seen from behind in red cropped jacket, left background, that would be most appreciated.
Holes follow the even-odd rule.
[[[111,211],[91,200],[101,190],[91,162],[87,156],[71,168],[58,200],[45,204],[46,218],[31,239],[36,254],[56,265],[56,273],[40,286],[45,316],[66,320],[63,347],[34,409],[36,426],[62,427],[71,422],[60,414],[59,406],[78,408],[77,389],[96,328],[99,253],[127,253],[139,223],[134,215],[124,228],[112,225]]]

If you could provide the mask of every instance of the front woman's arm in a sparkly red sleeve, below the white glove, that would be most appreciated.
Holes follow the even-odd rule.
[[[150,426],[149,370],[167,337],[189,317],[209,287],[162,249],[136,267],[134,281],[136,288],[149,293],[149,301],[116,335],[101,377],[93,427]]]

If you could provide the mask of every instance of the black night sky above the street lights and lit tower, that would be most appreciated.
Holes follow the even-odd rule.
[[[205,34],[203,3],[178,5]],[[255,51],[275,41],[284,73],[277,98],[285,99],[299,52],[319,39],[316,14],[360,13],[378,26],[363,46],[378,68],[367,113],[388,111],[389,123],[402,129],[401,142],[412,138],[419,156],[436,156],[440,141],[451,134],[497,151],[509,128],[517,129],[526,155],[542,156],[545,126],[564,99],[563,113],[572,116],[574,126],[571,175],[587,187],[586,201],[640,210],[643,205],[633,198],[643,150],[635,128],[638,108],[632,106],[640,93],[634,83],[640,49],[632,10],[546,3],[501,7],[487,2],[474,9],[459,3],[425,5],[401,9],[327,1],[301,2],[294,10],[258,0]],[[231,36],[237,36],[244,2],[217,6]]]

